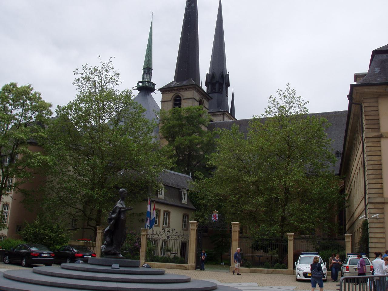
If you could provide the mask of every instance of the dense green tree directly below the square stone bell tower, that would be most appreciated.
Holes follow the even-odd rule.
[[[209,115],[202,106],[175,107],[160,113],[161,136],[168,142],[167,148],[176,160],[173,170],[195,176],[206,174],[208,155],[215,148],[215,132],[207,130]]]

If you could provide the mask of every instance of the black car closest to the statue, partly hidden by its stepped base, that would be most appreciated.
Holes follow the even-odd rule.
[[[71,263],[81,260],[84,263],[89,262],[89,258],[95,257],[86,246],[66,245],[55,252],[55,263]]]

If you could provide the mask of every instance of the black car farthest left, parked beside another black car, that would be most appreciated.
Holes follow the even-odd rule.
[[[42,244],[19,244],[5,252],[3,262],[21,263],[23,267],[30,264],[44,264],[51,266],[54,263],[54,253]]]

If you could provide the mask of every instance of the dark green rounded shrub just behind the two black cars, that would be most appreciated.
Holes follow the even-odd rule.
[[[52,223],[48,220],[40,219],[40,217],[37,217],[31,224],[27,222],[19,234],[27,243],[43,244],[52,251],[67,244],[70,239],[69,232],[60,223]]]

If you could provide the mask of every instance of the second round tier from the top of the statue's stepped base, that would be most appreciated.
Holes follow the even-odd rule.
[[[137,274],[137,275],[163,275],[166,272],[165,270],[157,269],[157,268],[120,267],[120,269],[112,269],[110,266],[78,264],[78,263],[61,264],[61,268],[67,269],[67,270],[109,273],[109,274],[113,273],[113,274]]]

